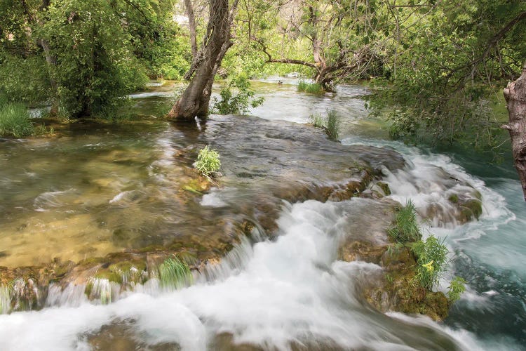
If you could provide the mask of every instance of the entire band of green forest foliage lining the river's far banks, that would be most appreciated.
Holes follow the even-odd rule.
[[[192,78],[220,1],[1,0],[1,100],[108,117],[149,78]],[[326,91],[366,81],[367,105],[394,138],[499,143],[501,89],[526,60],[524,2],[225,4],[233,17],[217,77],[300,72]]]

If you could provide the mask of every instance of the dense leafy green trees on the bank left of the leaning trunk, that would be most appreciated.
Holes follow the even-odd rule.
[[[163,58],[175,59],[164,45],[177,34],[173,1],[1,1],[0,93],[50,101],[67,117],[112,117],[148,69],[166,70]]]

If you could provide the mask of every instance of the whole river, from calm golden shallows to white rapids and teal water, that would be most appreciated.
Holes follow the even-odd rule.
[[[0,286],[0,350],[525,350],[526,205],[510,160],[393,142],[367,117],[362,86],[323,97],[293,80],[254,86],[259,118],[74,123],[60,138],[0,140],[2,272],[53,263],[65,277],[46,291]],[[173,90],[134,94],[134,111],[159,115]],[[306,125],[328,109],[342,116],[341,143]],[[211,189],[191,170],[205,145],[222,157]],[[392,194],[344,197],[367,167]],[[448,199],[473,188],[483,213],[465,223]],[[386,208],[408,199],[451,251],[439,289],[468,282],[444,322],[377,312],[360,291],[382,267],[339,259],[346,239],[382,244]],[[196,262],[191,286],[97,279],[86,296],[101,258],[171,251]],[[13,307],[16,289],[33,289],[34,304]]]

